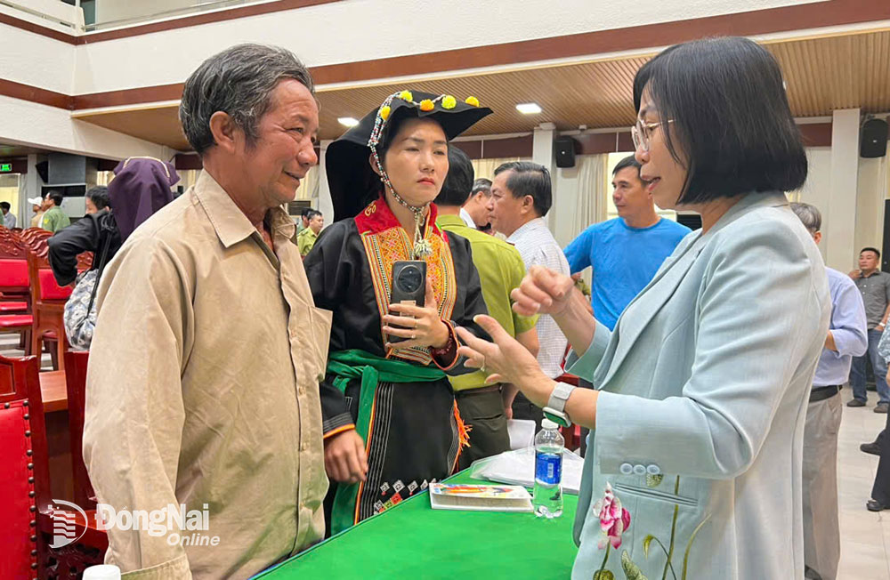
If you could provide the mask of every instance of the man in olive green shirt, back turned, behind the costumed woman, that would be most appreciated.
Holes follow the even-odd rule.
[[[460,217],[461,205],[473,189],[473,164],[455,146],[449,147],[449,173],[435,203],[439,209],[436,225],[470,242],[473,264],[479,271],[482,297],[491,317],[530,352],[538,356],[538,317],[523,317],[513,311],[510,293],[525,278],[525,262],[519,251],[506,242],[474,230]],[[497,455],[510,448],[506,420],[512,418],[516,396],[512,384],[485,384],[485,374],[449,377],[457,398],[457,408],[465,423],[472,426],[470,447],[460,455],[458,467],[465,469],[477,459]]]

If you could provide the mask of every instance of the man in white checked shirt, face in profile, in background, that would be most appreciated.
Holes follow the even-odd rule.
[[[550,172],[543,165],[512,161],[498,166],[491,184],[495,202],[491,226],[516,246],[526,270],[544,266],[569,276],[569,262],[544,221],[553,203],[551,188]],[[538,364],[547,376],[556,378],[562,375],[562,358],[568,342],[550,316],[541,315],[536,328],[540,342]],[[519,393],[514,400],[513,416],[514,419],[534,419],[539,427],[543,412]]]

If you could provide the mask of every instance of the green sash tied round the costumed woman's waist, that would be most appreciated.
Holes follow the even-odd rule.
[[[446,375],[436,367],[420,367],[401,360],[377,357],[364,350],[338,350],[328,359],[328,373],[335,375],[334,386],[340,392],[352,379],[361,379],[359,417],[355,431],[368,445],[368,427],[377,384],[384,383],[432,383]],[[331,511],[331,535],[338,534],[355,523],[355,503],[359,497],[359,484],[338,484]]]

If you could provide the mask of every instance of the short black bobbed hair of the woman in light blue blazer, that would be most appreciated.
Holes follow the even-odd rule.
[[[671,156],[680,161],[682,150],[688,159],[681,203],[804,184],[806,155],[781,68],[759,44],[736,36],[676,44],[637,71],[637,111],[643,90]]]

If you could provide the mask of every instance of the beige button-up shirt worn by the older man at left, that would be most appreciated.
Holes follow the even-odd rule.
[[[266,223],[274,252],[204,172],[102,276],[84,430],[99,502],[206,509],[198,534],[219,536],[111,528],[106,562],[133,577],[247,577],[324,535],[330,312],[313,305],[294,223],[279,208]]]

